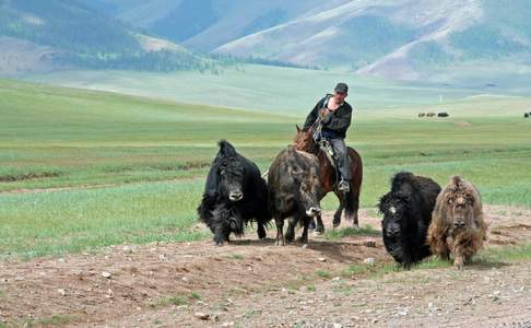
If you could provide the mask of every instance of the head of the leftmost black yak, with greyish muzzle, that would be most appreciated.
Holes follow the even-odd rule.
[[[220,141],[216,165],[222,198],[233,202],[240,201],[244,198],[244,163],[228,141]]]

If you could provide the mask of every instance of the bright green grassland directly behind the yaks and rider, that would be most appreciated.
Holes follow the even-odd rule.
[[[531,121],[521,117],[530,104],[471,97],[429,106],[449,119],[418,119],[427,107],[414,104],[357,110],[349,143],[364,159],[362,206],[408,169],[440,184],[461,174],[486,203],[531,207]],[[3,258],[202,238],[191,227],[215,142],[228,139],[266,169],[303,120],[13,81],[0,81],[0,117]]]

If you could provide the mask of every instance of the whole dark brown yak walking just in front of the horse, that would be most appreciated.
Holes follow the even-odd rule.
[[[276,224],[276,244],[284,245],[284,219],[290,218],[285,241],[292,243],[295,226],[304,227],[300,242],[308,244],[308,225],[311,216],[321,212],[319,197],[319,162],[312,154],[297,151],[293,145],[283,150],[269,168],[269,200]]]

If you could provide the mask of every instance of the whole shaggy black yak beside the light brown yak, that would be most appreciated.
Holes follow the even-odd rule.
[[[380,199],[381,232],[386,250],[409,268],[430,255],[426,232],[440,186],[430,178],[403,172],[391,180],[391,191]]]

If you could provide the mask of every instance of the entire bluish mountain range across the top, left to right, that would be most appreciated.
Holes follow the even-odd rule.
[[[0,70],[17,51],[34,67],[209,62],[188,48],[402,80],[531,71],[529,0],[0,0],[0,9],[9,49]]]

